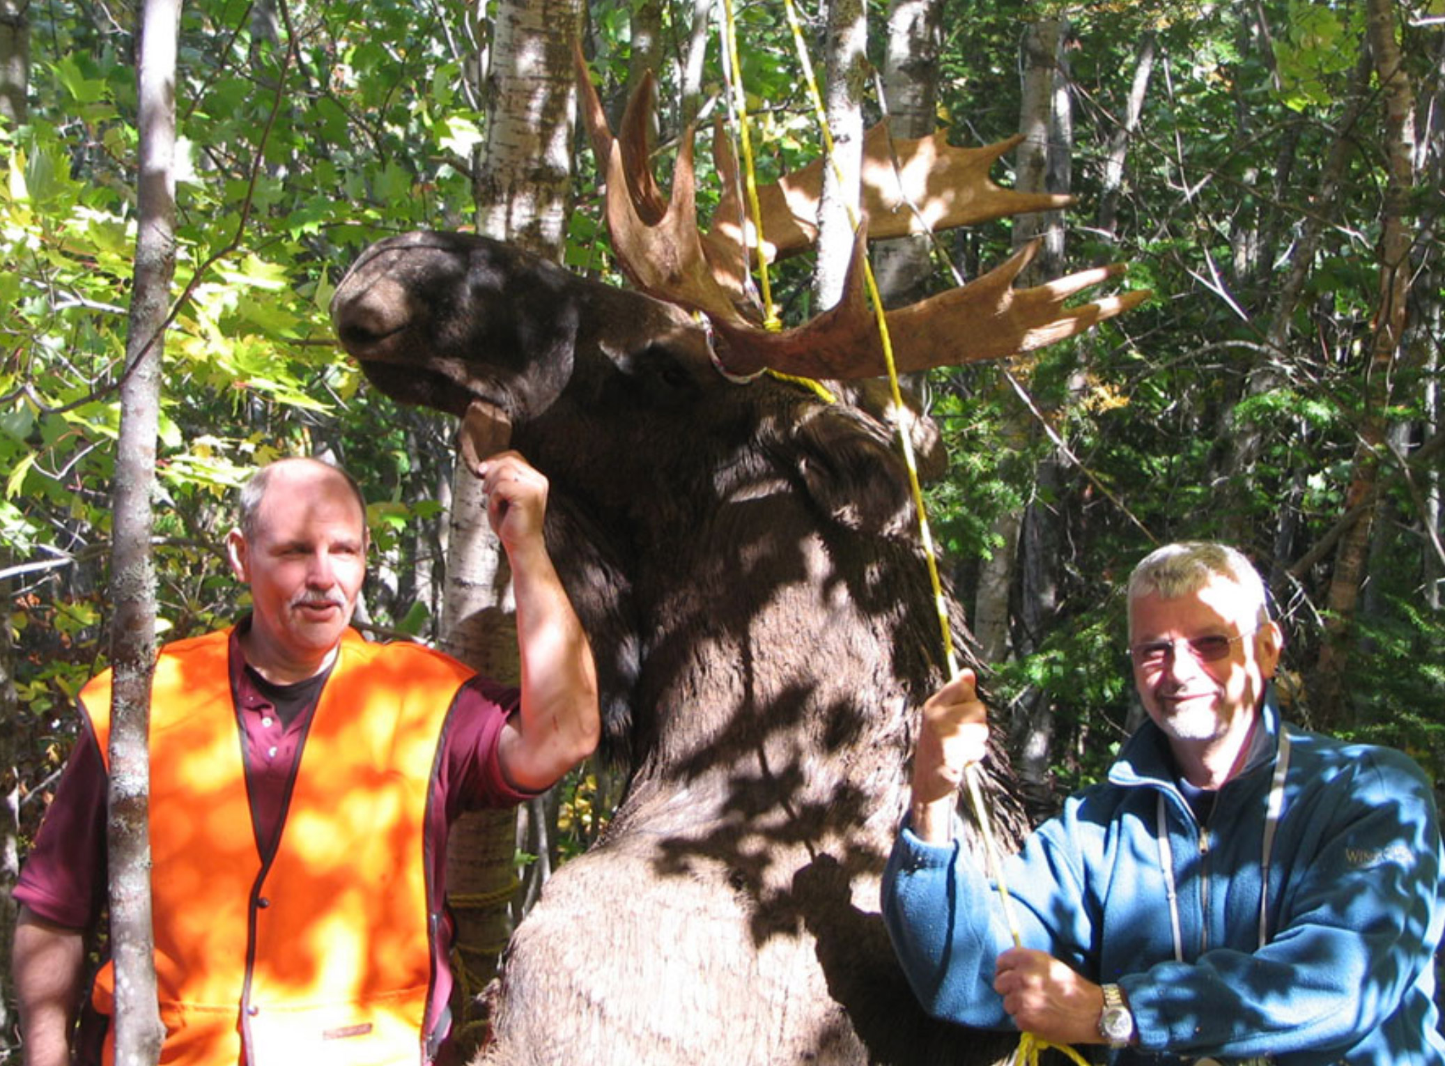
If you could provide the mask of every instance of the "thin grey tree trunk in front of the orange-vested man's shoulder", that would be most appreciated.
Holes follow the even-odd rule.
[[[160,361],[175,274],[175,77],[178,0],[140,12],[140,152],[134,290],[116,449],[110,656],[110,932],[116,963],[116,1062],[153,1066],[165,1030],[156,1011],[150,924],[150,677],[156,589],[150,507],[160,419]]]

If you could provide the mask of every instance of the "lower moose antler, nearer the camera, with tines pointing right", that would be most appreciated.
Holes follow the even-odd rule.
[[[1032,289],[1013,280],[1038,251],[1033,241],[983,277],[886,315],[900,374],[959,365],[1033,351],[1075,337],[1149,298],[1147,290],[1065,308],[1074,293],[1123,273],[1097,267]],[[857,253],[855,253],[857,256]],[[850,269],[851,274],[855,273]],[[861,287],[861,286],[857,286]],[[861,293],[845,292],[838,306],[808,325],[782,334],[718,326],[725,341],[720,358],[728,373],[764,367],[799,377],[858,378],[886,373],[883,345]],[[864,324],[861,318],[868,318]]]

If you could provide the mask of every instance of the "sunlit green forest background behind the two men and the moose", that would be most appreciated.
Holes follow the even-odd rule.
[[[1042,231],[1035,282],[1123,261],[1126,287],[1155,292],[1078,341],[926,381],[951,456],[931,487],[935,534],[1026,779],[1048,796],[1101,771],[1134,715],[1123,579],[1155,543],[1218,537],[1270,582],[1290,715],[1402,747],[1441,780],[1445,3],[900,0],[870,12],[879,69],[889,19],[910,7],[933,27],[918,56],[936,94],[926,117],[958,144],[1038,127],[996,178],[1078,198],[1058,218],[942,237],[952,266],[977,276]],[[136,12],[108,0],[0,9],[13,871],[114,610]],[[728,110],[715,36],[698,74],[686,62],[694,27],[718,17],[707,0],[585,12],[594,74],[618,111],[639,65],[660,72],[665,147],[683,116]],[[814,159],[818,134],[782,6],[737,17],[772,179]],[[803,17],[821,39],[822,16]],[[488,12],[452,0],[185,7],[153,545],[162,638],[243,608],[223,555],[231,490],[256,464],[315,452],[373,501],[361,621],[438,637],[454,426],[367,390],[327,305],[373,240],[475,224],[494,32]],[[870,120],[880,100],[864,104]],[[577,153],[565,260],[616,280],[582,139]],[[714,175],[699,185],[707,209]],[[808,313],[809,270],[775,274],[789,321]],[[949,283],[936,257],[894,292]],[[551,859],[595,836],[614,793],[601,767],[569,780],[549,815]]]

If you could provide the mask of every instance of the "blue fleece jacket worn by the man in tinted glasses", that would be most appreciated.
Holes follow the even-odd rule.
[[[1071,797],[1007,859],[1025,946],[1123,987],[1139,1040],[1118,1063],[1445,1063],[1433,1002],[1445,865],[1429,781],[1399,751],[1283,727],[1272,701],[1263,725],[1266,740],[1201,826],[1168,741],[1146,722],[1107,781]],[[1260,948],[1261,841],[1282,728],[1290,760]],[[1162,872],[1160,797],[1183,962]],[[883,914],[929,1011],[1012,1027],[993,974],[1013,942],[993,884],[957,835],[933,846],[903,826]]]

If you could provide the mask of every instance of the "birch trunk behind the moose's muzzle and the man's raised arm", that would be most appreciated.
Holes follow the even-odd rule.
[[[575,87],[571,42],[579,0],[504,0],[487,75],[487,142],[477,166],[477,224],[561,260],[571,209]],[[477,480],[457,464],[447,540],[442,647],[490,677],[519,675],[506,555],[493,536]],[[455,1050],[470,1056],[486,1018],[475,994],[496,972],[512,930],[517,878],[514,810],[468,815],[452,829],[448,897],[457,916]]]

